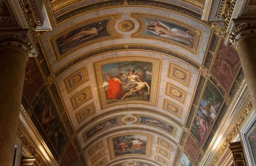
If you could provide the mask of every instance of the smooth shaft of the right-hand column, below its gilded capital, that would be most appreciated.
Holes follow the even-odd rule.
[[[239,54],[244,77],[256,108],[256,34],[248,34],[236,42],[236,50]]]

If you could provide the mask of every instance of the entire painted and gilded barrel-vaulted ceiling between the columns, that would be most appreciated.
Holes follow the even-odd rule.
[[[190,1],[57,2],[22,104],[59,165],[199,166],[243,78],[223,28]]]

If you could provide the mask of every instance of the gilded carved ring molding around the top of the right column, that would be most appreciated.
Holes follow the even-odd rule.
[[[251,30],[250,32],[245,33],[244,31]],[[232,44],[235,44],[237,41],[237,38],[243,37],[245,34],[254,33],[256,31],[256,23],[246,23],[243,25],[240,25],[236,29],[234,29],[230,34],[230,42]],[[240,34],[240,37],[238,35]]]

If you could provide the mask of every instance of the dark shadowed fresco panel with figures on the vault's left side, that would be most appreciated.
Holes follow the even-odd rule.
[[[48,90],[41,95],[34,111],[52,146],[55,147],[58,154],[61,154],[68,141],[68,136]]]

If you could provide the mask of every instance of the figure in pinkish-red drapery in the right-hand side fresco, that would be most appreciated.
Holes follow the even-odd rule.
[[[206,119],[203,116],[200,116],[199,114],[196,114],[198,116],[198,122],[199,122],[199,134],[200,134],[200,141],[201,145],[204,143],[204,141],[207,138],[207,135],[209,134],[209,127],[207,124]]]

